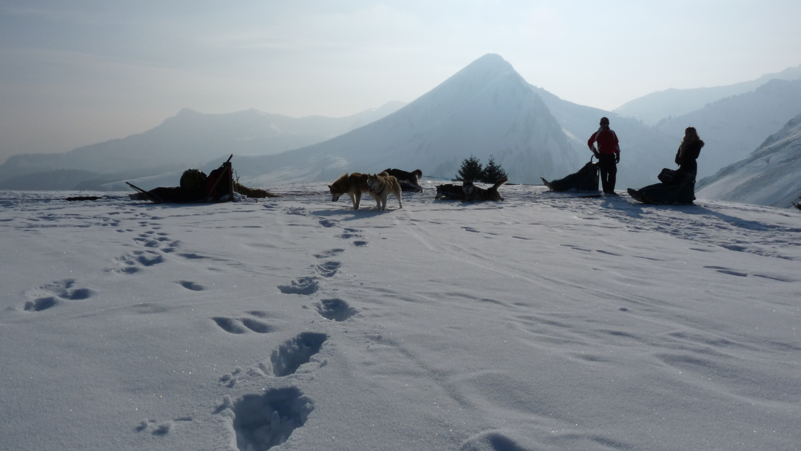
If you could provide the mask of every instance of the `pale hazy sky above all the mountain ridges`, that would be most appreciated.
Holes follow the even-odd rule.
[[[0,0],[0,161],[181,108],[347,116],[486,53],[578,104],[801,63],[801,2]]]

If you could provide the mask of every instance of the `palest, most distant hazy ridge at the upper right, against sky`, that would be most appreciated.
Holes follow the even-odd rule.
[[[626,102],[612,110],[622,116],[630,116],[642,120],[647,125],[654,125],[668,116],[682,116],[703,108],[706,104],[716,102],[731,95],[744,94],[771,81],[771,79],[801,79],[801,64],[798,67],[766,74],[759,79],[735,83],[727,86],[696,87],[693,89],[670,88],[665,91],[652,92],[637,99]]]

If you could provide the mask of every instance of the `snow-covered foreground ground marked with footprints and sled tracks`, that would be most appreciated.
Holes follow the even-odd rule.
[[[801,212],[542,189],[0,193],[0,449],[801,448]]]

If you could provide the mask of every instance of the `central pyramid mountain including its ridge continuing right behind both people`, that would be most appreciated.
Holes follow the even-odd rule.
[[[621,139],[618,188],[639,187],[673,165],[681,135],[638,120],[559,99],[525,82],[498,55],[485,55],[405,108],[320,144],[272,156],[235,156],[245,185],[332,180],[345,172],[389,166],[454,177],[461,160],[490,155],[514,183],[540,183],[574,173],[591,153],[586,140],[609,116]],[[214,169],[220,160],[203,166]],[[134,181],[142,188],[174,185],[178,173]],[[106,185],[123,189],[124,183]]]

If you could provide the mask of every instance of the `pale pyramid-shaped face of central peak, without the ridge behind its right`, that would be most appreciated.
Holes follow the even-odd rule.
[[[240,158],[252,185],[320,181],[388,167],[454,177],[461,160],[490,155],[516,183],[563,177],[584,156],[541,98],[498,55],[485,55],[399,111],[324,143],[277,156]]]

